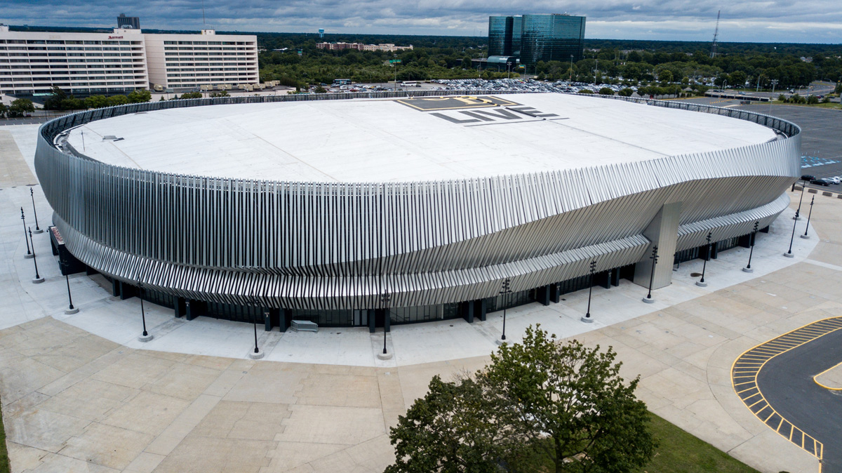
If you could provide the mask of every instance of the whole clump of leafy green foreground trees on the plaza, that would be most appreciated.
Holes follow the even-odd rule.
[[[556,471],[626,473],[653,457],[646,405],[609,348],[557,343],[540,326],[505,343],[476,378],[445,383],[390,429],[386,473]]]

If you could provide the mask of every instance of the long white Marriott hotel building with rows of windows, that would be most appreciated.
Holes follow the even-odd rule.
[[[38,95],[60,87],[77,95],[140,88],[258,83],[257,37],[9,31],[0,25],[0,93]]]

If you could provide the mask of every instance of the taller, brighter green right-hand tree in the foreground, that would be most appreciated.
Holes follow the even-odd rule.
[[[539,325],[527,327],[523,343],[504,343],[478,378],[493,396],[498,425],[525,438],[557,472],[621,473],[647,465],[656,442],[646,404],[634,396],[640,376],[626,384],[615,359],[611,348],[557,343]]]

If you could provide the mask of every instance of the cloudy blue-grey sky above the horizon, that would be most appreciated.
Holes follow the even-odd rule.
[[[586,38],[710,41],[722,10],[722,41],[842,43],[839,0],[205,0],[220,30],[488,35],[488,15],[571,13],[588,17]],[[0,23],[200,29],[201,0],[0,0]]]

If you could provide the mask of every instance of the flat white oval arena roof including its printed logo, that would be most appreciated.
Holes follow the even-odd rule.
[[[748,121],[560,93],[188,107],[93,121],[69,137],[118,166],[303,182],[534,173],[773,139]]]

